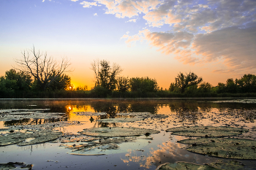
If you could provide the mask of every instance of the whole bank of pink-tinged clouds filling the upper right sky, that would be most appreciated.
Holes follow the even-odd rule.
[[[82,4],[82,3],[81,3]],[[175,54],[184,63],[223,61],[229,70],[256,72],[255,0],[94,0],[83,7],[100,4],[105,13],[128,22],[143,19],[147,28],[124,34],[129,46],[147,41],[161,53]],[[151,28],[169,26],[168,31]],[[166,27],[165,27],[166,28]]]

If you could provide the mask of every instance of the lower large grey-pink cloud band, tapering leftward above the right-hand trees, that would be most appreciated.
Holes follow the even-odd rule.
[[[183,63],[222,61],[228,68],[214,72],[256,72],[256,22],[197,35],[187,31],[151,32],[146,29],[122,38],[127,39],[129,47],[146,40],[162,53],[176,54],[175,58]]]

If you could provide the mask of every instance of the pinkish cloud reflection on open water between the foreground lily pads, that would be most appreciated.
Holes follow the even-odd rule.
[[[176,161],[185,161],[189,163],[211,163],[217,158],[209,158],[208,156],[199,155],[193,152],[184,150],[186,144],[180,144],[176,141],[185,139],[184,136],[173,136],[172,141],[163,142],[157,145],[157,150],[153,147],[149,149],[149,152],[137,152],[130,150],[125,155],[127,158],[121,159],[127,166],[131,163],[139,163],[140,167],[145,169],[151,169],[152,166],[159,166],[162,163],[175,163]]]

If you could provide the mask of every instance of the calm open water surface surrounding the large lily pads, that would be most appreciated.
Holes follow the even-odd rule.
[[[134,117],[129,113],[140,113],[145,116],[134,121],[113,120]],[[151,116],[147,117],[147,114]],[[63,136],[50,142],[26,146],[1,146],[0,163],[23,162],[32,164],[32,169],[157,169],[163,163],[185,161],[201,165],[222,162],[226,169],[230,161],[237,161],[243,169],[256,169],[256,158],[218,158],[189,152],[185,150],[186,144],[178,142],[189,137],[172,135],[171,132],[165,131],[181,126],[229,126],[249,130],[239,134],[238,138],[256,140],[254,100],[241,102],[218,98],[1,99],[0,115],[1,129],[50,128],[63,133]],[[109,118],[112,120],[101,121]],[[102,146],[99,145],[94,148],[98,150],[96,152],[91,149],[78,152],[72,150],[73,147],[94,140],[91,136],[81,136],[80,131],[101,127],[147,128],[159,133],[135,136],[131,142],[125,139],[126,142],[118,143],[118,148],[105,148],[101,154],[96,154],[102,150]],[[5,135],[3,131],[0,133],[0,138]],[[113,138],[99,138],[99,142],[105,139]],[[73,151],[75,154],[72,154]]]

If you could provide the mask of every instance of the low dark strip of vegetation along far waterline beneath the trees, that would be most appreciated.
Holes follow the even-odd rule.
[[[0,98],[256,98],[256,93],[173,93],[159,90],[151,93],[97,93],[94,90],[21,91]]]

